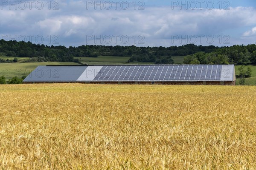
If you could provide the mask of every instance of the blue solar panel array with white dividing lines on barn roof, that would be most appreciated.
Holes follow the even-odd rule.
[[[107,65],[93,81],[220,80],[221,65]]]

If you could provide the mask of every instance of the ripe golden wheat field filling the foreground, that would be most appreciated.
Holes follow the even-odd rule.
[[[256,86],[0,85],[0,169],[256,169]]]

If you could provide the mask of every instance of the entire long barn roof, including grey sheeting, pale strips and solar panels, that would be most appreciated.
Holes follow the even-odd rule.
[[[234,81],[234,65],[46,65],[23,82]]]

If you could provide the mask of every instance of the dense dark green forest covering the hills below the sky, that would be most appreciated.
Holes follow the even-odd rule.
[[[130,57],[127,62],[155,62],[173,64],[173,56],[186,56],[184,64],[256,64],[256,45],[233,45],[231,47],[202,46],[186,44],[170,47],[136,47],[81,45],[69,48],[48,46],[32,42],[0,40],[0,55],[12,57],[30,57],[27,62],[79,62],[74,57],[121,56]],[[1,59],[0,62],[9,62]]]

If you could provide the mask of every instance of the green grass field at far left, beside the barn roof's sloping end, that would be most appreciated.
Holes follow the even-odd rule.
[[[26,62],[26,63],[0,63],[0,76],[6,80],[12,77],[29,75],[38,65],[80,65],[76,62]]]

